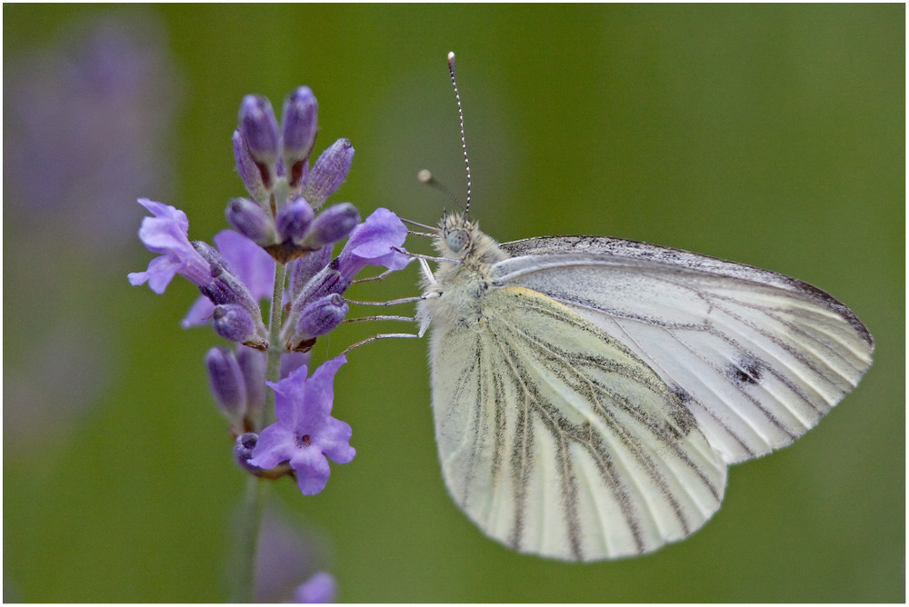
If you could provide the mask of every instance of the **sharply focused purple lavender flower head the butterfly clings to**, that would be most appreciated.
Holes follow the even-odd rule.
[[[131,284],[148,283],[159,294],[176,274],[199,287],[203,296],[183,325],[211,322],[215,333],[243,344],[236,353],[214,348],[205,359],[215,402],[235,439],[236,463],[260,479],[295,476],[305,495],[325,489],[329,458],[348,463],[355,455],[350,426],[331,416],[335,373],[346,359],[341,355],[329,360],[307,377],[306,352],[317,337],[343,321],[348,305],[342,294],[366,265],[398,270],[410,261],[401,251],[407,230],[391,211],[379,209],[363,224],[350,203],[316,213],[344,182],[354,157],[350,142],[339,139],[309,169],[317,109],[312,91],[296,89],[285,102],[279,129],[270,102],[247,95],[233,144],[237,171],[252,200],[235,198],[226,210],[238,232],[217,234],[217,249],[190,242],[182,211],[142,199],[140,204],[153,216],[143,220],[139,235],[159,256],[145,272],[129,274]],[[332,259],[333,245],[345,237],[347,244]],[[274,298],[267,327],[264,298]],[[280,379],[268,382],[266,375]],[[265,411],[265,386],[275,394],[274,414]],[[275,423],[262,428],[265,420],[274,418]],[[255,493],[250,505],[261,505],[261,499],[261,493]],[[248,512],[255,522],[255,508]],[[255,530],[255,524],[245,525],[245,530]],[[251,552],[244,551],[239,560],[246,572],[253,569]],[[293,581],[297,600],[334,598],[336,584],[330,574],[318,572],[299,584],[301,579],[303,575]],[[236,598],[248,600],[249,576],[236,580]]]

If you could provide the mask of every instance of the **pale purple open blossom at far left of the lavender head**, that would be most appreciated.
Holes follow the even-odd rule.
[[[127,274],[129,283],[136,286],[147,282],[156,294],[165,292],[175,274],[200,287],[211,283],[208,262],[196,252],[187,237],[189,220],[186,214],[169,204],[155,203],[147,198],[140,198],[139,204],[155,215],[142,220],[139,239],[149,251],[160,254],[160,257],[155,257],[145,272]]]

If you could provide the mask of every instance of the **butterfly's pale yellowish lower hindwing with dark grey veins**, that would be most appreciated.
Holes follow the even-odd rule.
[[[520,552],[649,552],[719,507],[726,467],[679,393],[594,323],[524,288],[482,320],[436,325],[433,410],[445,483]]]

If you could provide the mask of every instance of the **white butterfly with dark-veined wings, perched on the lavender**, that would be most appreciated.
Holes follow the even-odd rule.
[[[684,539],[729,464],[813,428],[872,361],[843,303],[749,265],[606,237],[497,244],[466,210],[435,248],[417,318],[445,485],[519,552],[595,561]]]

